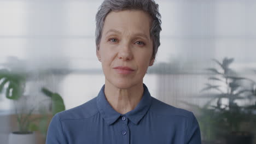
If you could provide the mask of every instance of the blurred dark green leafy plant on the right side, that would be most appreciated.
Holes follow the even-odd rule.
[[[234,62],[233,58],[224,58],[222,62],[216,59],[213,59],[213,61],[218,64],[219,69],[207,69],[211,72],[208,77],[210,82],[206,83],[206,87],[201,89],[201,92],[208,93],[202,93],[199,97],[196,97],[199,99],[207,98],[207,103],[203,106],[185,101],[182,101],[182,103],[197,112],[196,117],[202,131],[202,140],[206,143],[221,143],[226,139],[226,136],[230,136],[232,131],[239,132],[240,125],[244,122],[250,123],[250,127],[252,127],[251,131],[247,132],[252,132],[253,127],[256,127],[256,103],[253,105],[237,104],[240,100],[252,101],[256,99],[256,82],[238,76],[230,68],[230,64]],[[244,85],[245,83],[250,84],[248,86]],[[247,132],[241,133],[240,131],[237,134],[248,135]]]

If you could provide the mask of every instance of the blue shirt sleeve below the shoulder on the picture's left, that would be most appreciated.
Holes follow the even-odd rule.
[[[60,121],[60,113],[57,113],[53,119],[51,119],[50,125],[48,127],[47,136],[46,136],[46,144],[52,143],[61,143],[65,144],[66,139],[63,135],[63,129]]]

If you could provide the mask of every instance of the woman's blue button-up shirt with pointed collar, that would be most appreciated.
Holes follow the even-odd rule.
[[[108,103],[104,86],[94,99],[57,113],[46,143],[200,144],[200,129],[192,112],[151,97],[148,88],[139,104],[121,115]]]

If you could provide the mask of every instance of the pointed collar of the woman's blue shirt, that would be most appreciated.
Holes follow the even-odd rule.
[[[98,93],[97,107],[104,120],[110,125],[117,121],[121,114],[115,111],[113,107],[108,103],[104,94],[104,88],[105,85],[102,86],[101,91]],[[144,83],[143,88],[143,96],[142,99],[139,101],[138,105],[135,107],[135,109],[123,115],[135,124],[138,124],[142,117],[147,113],[152,101],[152,97],[148,91],[147,86]]]

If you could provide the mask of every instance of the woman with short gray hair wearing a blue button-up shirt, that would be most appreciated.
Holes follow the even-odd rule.
[[[57,113],[46,143],[201,143],[193,113],[150,96],[143,77],[160,45],[153,0],[105,0],[96,15],[96,53],[105,85],[94,99]]]

